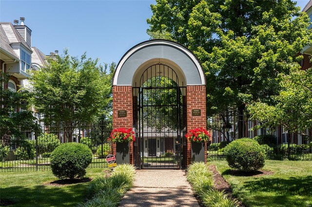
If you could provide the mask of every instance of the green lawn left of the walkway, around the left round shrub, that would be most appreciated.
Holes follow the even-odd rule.
[[[103,169],[87,169],[87,177],[103,176]],[[0,199],[10,200],[14,207],[72,207],[83,201],[90,183],[62,187],[47,186],[58,180],[51,171],[1,172]]]

